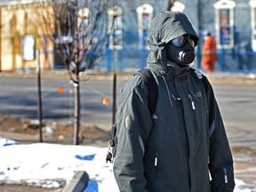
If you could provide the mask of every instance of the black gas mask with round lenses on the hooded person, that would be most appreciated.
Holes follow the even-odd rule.
[[[177,63],[180,67],[186,67],[195,58],[195,41],[189,35],[178,36],[166,45],[168,60]]]

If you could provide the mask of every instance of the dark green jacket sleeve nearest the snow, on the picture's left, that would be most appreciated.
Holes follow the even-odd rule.
[[[148,109],[148,88],[132,81],[119,92],[117,108],[117,148],[114,175],[120,192],[146,192],[143,156],[152,127]],[[145,89],[146,88],[146,89]]]

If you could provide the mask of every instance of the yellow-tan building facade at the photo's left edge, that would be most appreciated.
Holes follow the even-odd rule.
[[[54,67],[54,14],[39,1],[0,1],[0,70]]]

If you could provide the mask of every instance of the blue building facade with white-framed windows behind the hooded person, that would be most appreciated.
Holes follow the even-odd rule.
[[[115,17],[118,16],[120,20],[116,20],[116,23],[120,22],[119,27],[122,29],[118,32],[118,45],[109,46],[100,67],[105,66],[108,70],[113,66],[118,70],[142,68],[149,52],[148,25],[157,12],[166,9],[166,1],[114,1],[112,4],[112,7],[118,7]],[[201,68],[203,32],[207,30],[217,41],[216,70],[256,70],[255,0],[176,0],[172,11],[186,13],[200,37],[194,67]]]

